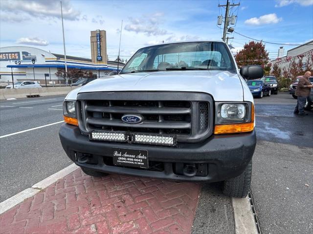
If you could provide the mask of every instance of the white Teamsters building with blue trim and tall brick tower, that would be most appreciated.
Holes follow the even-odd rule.
[[[99,34],[98,34],[99,32]],[[94,41],[94,38],[97,40]],[[94,78],[101,78],[117,70],[116,61],[107,61],[106,32],[91,31],[91,59],[66,56],[67,71],[80,70],[92,72]],[[119,70],[124,66],[119,63]],[[9,46],[0,48],[0,82],[35,80],[41,84],[65,83],[58,71],[65,71],[64,55],[50,53],[28,46]],[[70,79],[70,77],[69,77]],[[69,82],[72,82],[70,79]]]

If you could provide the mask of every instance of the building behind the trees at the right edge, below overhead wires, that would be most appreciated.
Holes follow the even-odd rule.
[[[280,47],[278,50],[277,59],[273,59],[270,61],[271,71],[273,70],[273,66],[277,64],[283,73],[284,70],[289,70],[292,61],[298,63],[299,59],[302,59],[303,71],[307,68],[308,63],[313,66],[313,40],[290,49],[289,51],[287,51],[287,55],[284,57],[282,57],[283,53],[284,48]]]

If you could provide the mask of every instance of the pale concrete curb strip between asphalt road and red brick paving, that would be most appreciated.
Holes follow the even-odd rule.
[[[56,182],[58,179],[63,178],[64,176],[67,176],[71,172],[78,169],[79,166],[77,166],[75,163],[72,163],[71,165],[67,166],[66,168],[62,169],[61,171],[53,174],[52,176],[48,176],[44,180],[34,184],[31,188],[25,189],[22,192],[18,193],[17,195],[14,195],[5,201],[2,201],[0,203],[0,215],[14,206],[18,205],[25,199],[39,193],[41,190],[45,189],[49,185]]]

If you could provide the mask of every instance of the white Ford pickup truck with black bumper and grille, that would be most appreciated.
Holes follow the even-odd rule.
[[[91,176],[123,174],[176,181],[224,181],[244,197],[256,144],[253,97],[222,41],[139,49],[118,75],[65,98],[59,135],[67,156]]]

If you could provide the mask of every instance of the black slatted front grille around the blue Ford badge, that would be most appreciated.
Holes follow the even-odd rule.
[[[132,96],[134,93],[122,100],[116,100],[118,96],[110,99],[78,99],[76,107],[81,132],[86,135],[99,130],[175,135],[178,142],[199,139],[199,136],[209,132],[209,106],[213,105],[208,101],[180,99],[184,98],[183,95],[174,95],[167,100],[162,99],[166,98],[162,95],[157,100],[152,97],[150,100],[146,96],[146,100],[140,100],[140,92],[134,99],[131,99]],[[124,115],[140,115],[143,121],[138,124],[125,123],[122,121]]]

